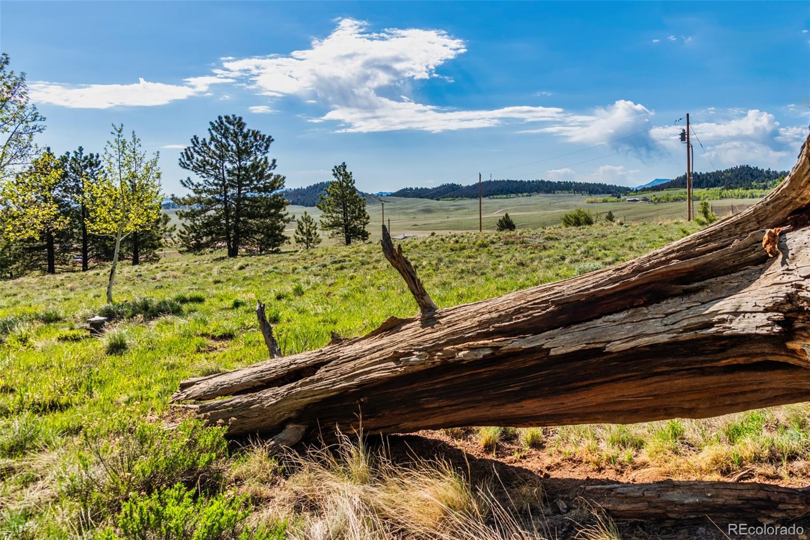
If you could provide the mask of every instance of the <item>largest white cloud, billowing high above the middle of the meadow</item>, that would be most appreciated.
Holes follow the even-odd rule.
[[[463,40],[441,30],[367,32],[363,21],[342,19],[329,36],[313,40],[309,49],[228,60],[223,73],[249,79],[265,96],[318,99],[330,110],[312,121],[339,122],[339,131],[344,132],[439,132],[562,117],[561,108],[454,110],[402,96],[410,83],[439,77],[439,66],[466,51]]]

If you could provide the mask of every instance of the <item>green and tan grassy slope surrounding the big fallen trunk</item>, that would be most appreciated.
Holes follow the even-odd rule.
[[[400,202],[386,205],[386,215]],[[521,202],[488,201],[495,206],[485,211]],[[456,223],[468,219],[464,204],[454,206]],[[576,206],[565,196],[555,204]],[[445,206],[434,210],[435,219],[450,219]],[[404,203],[399,212],[392,224],[413,219]],[[686,223],[551,227],[427,236],[405,240],[404,249],[446,307],[592,271],[694,230]],[[105,274],[0,283],[0,536],[501,538],[496,526],[534,526],[535,536],[522,538],[548,538],[551,531],[526,520],[527,512],[559,514],[551,504],[557,495],[537,487],[555,467],[608,478],[640,470],[717,477],[748,466],[787,483],[810,476],[806,406],[630,427],[463,428],[377,449],[344,441],[337,454],[316,449],[283,462],[267,457],[260,441],[226,444],[222,427],[183,421],[167,432],[161,423],[183,413],[167,405],[179,381],[266,358],[256,300],[266,302],[284,355],[322,347],[332,330],[355,336],[386,317],[412,316],[416,305],[377,244],[122,266],[115,306],[104,305]],[[113,318],[103,338],[83,330],[96,313]],[[444,450],[431,446],[420,459],[405,451],[425,440]],[[477,474],[441,458],[451,449],[538,476],[501,486],[491,469]]]

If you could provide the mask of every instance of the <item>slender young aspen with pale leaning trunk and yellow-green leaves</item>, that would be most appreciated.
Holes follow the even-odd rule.
[[[107,302],[113,303],[113,283],[121,252],[121,241],[133,232],[148,228],[160,217],[160,169],[158,153],[147,158],[141,140],[124,125],[114,125],[104,147],[104,172],[87,185],[90,216],[87,229],[115,239],[113,266],[107,282]]]

